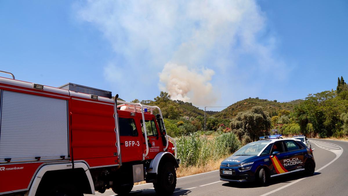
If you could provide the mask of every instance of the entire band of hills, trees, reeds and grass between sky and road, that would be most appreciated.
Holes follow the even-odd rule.
[[[134,103],[161,108],[168,135],[176,138],[181,159],[178,176],[218,169],[221,161],[241,146],[270,135],[345,138],[348,136],[348,85],[338,78],[336,90],[309,94],[305,100],[279,103],[277,100],[248,98],[221,112],[207,112],[192,103],[171,100],[161,92],[154,100]],[[154,113],[156,113],[155,111]]]

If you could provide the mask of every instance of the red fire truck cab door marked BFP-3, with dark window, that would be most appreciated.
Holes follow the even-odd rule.
[[[138,120],[138,118],[135,118]],[[129,162],[142,160],[143,141],[141,140],[138,129],[133,118],[119,116],[121,161]]]

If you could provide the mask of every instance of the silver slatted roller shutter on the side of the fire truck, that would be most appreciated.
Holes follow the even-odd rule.
[[[2,91],[0,162],[68,157],[67,101]]]

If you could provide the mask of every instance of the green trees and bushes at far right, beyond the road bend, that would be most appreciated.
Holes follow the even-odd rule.
[[[336,90],[309,94],[294,110],[279,111],[271,118],[272,128],[284,135],[309,137],[348,136],[348,85],[338,78]]]

